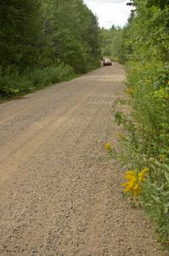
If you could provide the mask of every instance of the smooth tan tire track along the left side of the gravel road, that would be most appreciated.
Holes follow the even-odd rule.
[[[103,80],[106,80],[106,77],[101,79],[97,84],[94,84],[96,87],[94,87],[87,96],[82,96],[82,98],[79,98],[78,96],[74,99],[76,107],[71,108],[67,113],[64,114],[64,111],[60,113],[60,110],[57,109],[51,116],[47,116],[45,119],[42,119],[42,122],[35,122],[30,125],[20,134],[20,136],[15,137],[12,143],[9,141],[1,147],[0,183],[3,183],[3,181],[8,177],[9,172],[14,172],[14,170],[16,170],[21,163],[24,163],[25,160],[27,160],[28,157],[37,150],[37,148],[40,148],[60,125],[65,121],[69,122],[72,113],[82,106],[82,104],[87,100],[87,97],[97,90],[99,84],[101,84]],[[59,119],[56,120],[57,114],[59,114]],[[10,174],[12,175],[12,173]]]

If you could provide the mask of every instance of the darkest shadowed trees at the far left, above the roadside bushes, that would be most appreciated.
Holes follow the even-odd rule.
[[[40,32],[39,2],[1,0],[0,65],[23,70],[37,62],[37,37]]]

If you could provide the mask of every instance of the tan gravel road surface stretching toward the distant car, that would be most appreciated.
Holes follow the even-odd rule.
[[[114,64],[0,105],[0,255],[164,255],[104,157],[124,79]]]

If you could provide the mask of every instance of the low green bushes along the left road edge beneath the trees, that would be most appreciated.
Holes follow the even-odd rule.
[[[0,97],[25,94],[40,89],[48,84],[54,84],[75,77],[73,69],[64,64],[59,67],[37,68],[19,73],[10,69],[0,72]]]

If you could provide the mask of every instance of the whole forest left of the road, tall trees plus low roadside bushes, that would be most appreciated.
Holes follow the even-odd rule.
[[[0,97],[99,67],[99,25],[82,0],[0,2]]]

